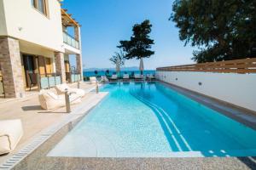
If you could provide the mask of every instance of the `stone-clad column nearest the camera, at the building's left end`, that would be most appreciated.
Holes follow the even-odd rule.
[[[25,95],[19,40],[0,37],[0,63],[5,97],[20,98]]]

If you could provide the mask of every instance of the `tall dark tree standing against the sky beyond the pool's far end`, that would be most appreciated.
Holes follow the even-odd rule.
[[[154,40],[149,38],[152,25],[149,20],[144,20],[141,24],[133,26],[133,34],[128,41],[120,41],[118,48],[125,52],[125,59],[143,59],[154,54],[150,48]]]

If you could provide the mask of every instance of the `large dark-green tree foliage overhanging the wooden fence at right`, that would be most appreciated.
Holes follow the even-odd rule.
[[[255,0],[176,0],[172,10],[179,38],[199,48],[195,61],[256,57]]]

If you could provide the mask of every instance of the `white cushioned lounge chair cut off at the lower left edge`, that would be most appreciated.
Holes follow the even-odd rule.
[[[15,150],[23,135],[20,119],[0,121],[0,155]]]

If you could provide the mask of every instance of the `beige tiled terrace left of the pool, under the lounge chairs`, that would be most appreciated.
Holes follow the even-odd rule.
[[[73,83],[69,86],[75,88],[77,84]],[[90,89],[94,87],[95,85],[90,83],[83,82],[80,84],[80,88],[83,88],[85,91],[90,91]],[[85,94],[81,104],[71,105],[72,111],[79,107],[79,105],[92,102],[98,95],[102,96],[102,94],[96,94],[95,92]],[[52,111],[45,111],[41,109],[37,91],[32,91],[22,99],[2,99],[0,103],[0,120],[20,119],[24,134],[13,152],[5,156],[0,156],[0,164],[9,157],[14,156],[21,148],[31,142],[38,133],[52,125],[55,125],[68,115],[69,114],[67,114],[65,107]]]

